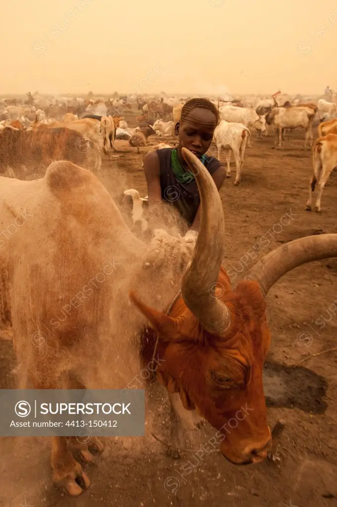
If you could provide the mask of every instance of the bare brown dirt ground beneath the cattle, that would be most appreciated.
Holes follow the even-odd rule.
[[[226,179],[221,198],[226,220],[223,264],[230,270],[233,285],[256,262],[246,256],[256,243],[261,245],[261,258],[284,242],[336,232],[335,174],[323,192],[322,213],[305,211],[312,165],[310,152],[302,148],[303,139],[303,132],[292,132],[281,150],[273,150],[272,134],[261,140],[253,134],[238,187],[233,185],[232,166],[232,176]],[[149,140],[157,142],[155,137]],[[112,195],[135,188],[145,196],[141,163],[150,147],[141,148],[142,154],[138,155],[127,141],[117,141],[116,149],[103,163],[103,184]],[[225,162],[224,157],[222,160]],[[282,219],[284,215],[291,220]],[[130,452],[121,439],[105,439],[104,452],[95,464],[85,468],[92,481],[90,489],[74,499],[52,485],[50,439],[1,438],[0,505],[336,505],[337,351],[314,356],[337,347],[337,310],[331,306],[337,300],[336,281],[337,260],[316,262],[284,276],[267,296],[272,334],[264,371],[268,418],[271,427],[279,418],[285,421],[278,460],[235,466],[218,449],[199,458],[195,450],[214,434],[209,427],[197,430],[194,450],[181,452],[179,459],[168,457],[165,447],[154,440],[141,451]],[[323,326],[318,325],[319,318]],[[312,357],[303,360],[308,354]],[[15,387],[14,367],[11,343],[0,342],[0,388]],[[181,467],[189,461],[194,465],[193,472],[184,477]]]

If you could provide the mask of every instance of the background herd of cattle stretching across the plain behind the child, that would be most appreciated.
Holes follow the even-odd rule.
[[[148,145],[148,137],[158,134],[174,137],[184,97],[158,98],[145,101],[139,96],[105,100],[103,97],[44,98],[28,93],[28,99],[0,99],[0,170],[7,175],[24,178],[40,167],[43,170],[54,160],[69,160],[97,173],[102,154],[114,151],[115,139],[127,139],[130,146]],[[271,98],[241,97],[232,100],[212,100],[219,111],[220,123],[214,134],[214,144],[220,159],[226,150],[227,174],[231,154],[236,166],[235,185],[240,182],[246,145],[251,146],[251,131],[258,137],[268,135],[273,125],[281,148],[286,130],[305,131],[304,148],[313,144],[313,124],[319,123],[319,139],[313,146],[314,174],[310,183],[307,209],[311,209],[316,183],[319,191],[315,209],[320,211],[321,194],[336,164],[337,97],[292,98],[277,92]],[[124,121],[125,111],[136,108],[141,114],[137,127]],[[276,146],[277,144],[277,146]],[[166,145],[165,145],[166,146]]]

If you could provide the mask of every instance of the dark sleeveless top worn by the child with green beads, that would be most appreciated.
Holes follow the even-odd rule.
[[[200,204],[199,191],[195,180],[183,185],[176,179],[171,166],[172,150],[172,148],[156,150],[159,159],[161,198],[177,208],[188,226],[191,226]],[[213,174],[222,164],[218,159],[206,156],[204,166],[209,174]]]

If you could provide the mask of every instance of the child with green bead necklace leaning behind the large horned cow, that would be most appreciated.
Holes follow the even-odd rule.
[[[199,231],[200,196],[181,150],[187,148],[202,161],[219,191],[225,180],[225,168],[216,158],[204,155],[212,143],[218,121],[218,111],[212,102],[204,98],[188,100],[175,125],[178,148],[149,152],[143,160],[151,211],[160,213],[162,201],[173,205],[188,224],[186,239],[196,237]]]

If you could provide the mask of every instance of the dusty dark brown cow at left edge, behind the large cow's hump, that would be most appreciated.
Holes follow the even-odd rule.
[[[87,163],[88,141],[67,128],[18,130],[7,127],[0,132],[0,167],[14,170],[19,179],[37,173],[42,176],[55,160]]]

